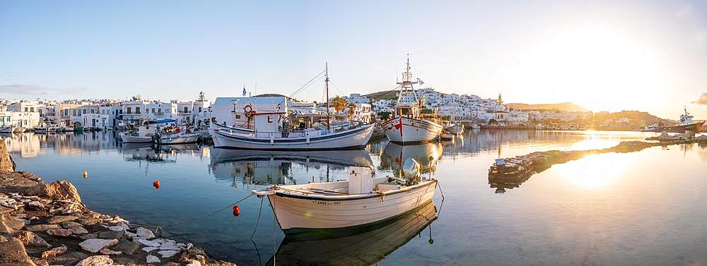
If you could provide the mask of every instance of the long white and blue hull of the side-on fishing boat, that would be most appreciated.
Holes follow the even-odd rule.
[[[215,130],[214,147],[243,150],[339,150],[359,149],[368,143],[373,125],[311,138],[253,138],[252,135]]]

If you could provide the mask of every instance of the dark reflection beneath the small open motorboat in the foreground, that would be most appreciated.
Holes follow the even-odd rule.
[[[385,256],[408,243],[430,226],[428,243],[433,244],[431,223],[437,219],[432,200],[400,217],[373,228],[361,228],[331,234],[297,234],[285,236],[274,259],[265,265],[374,265]],[[276,260],[275,263],[273,260]]]

